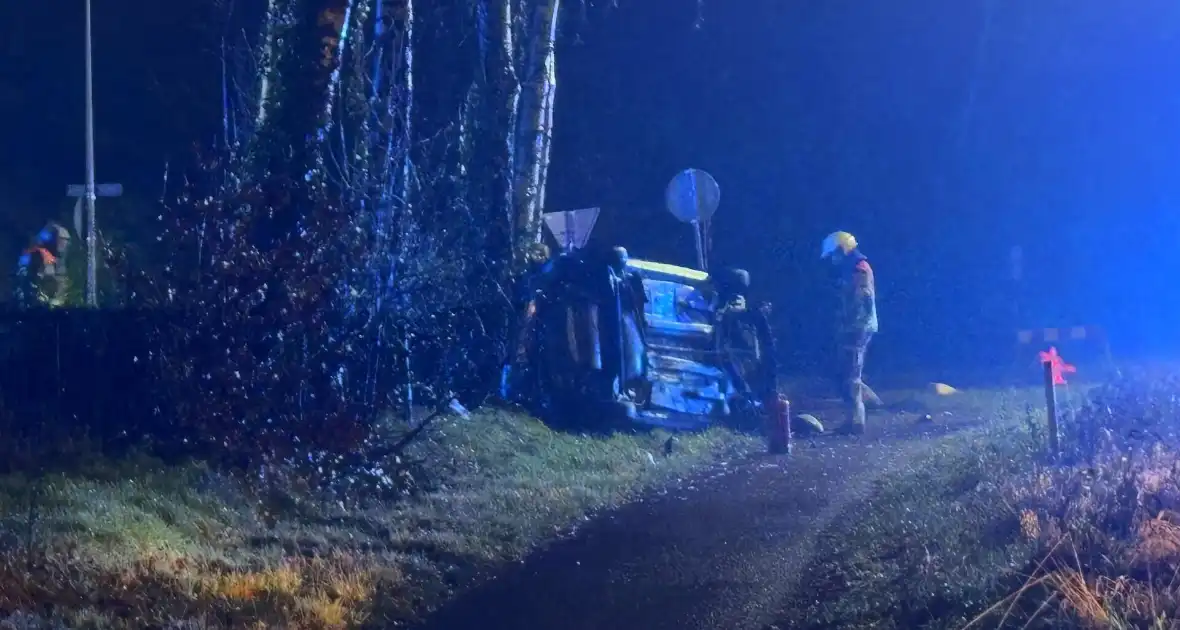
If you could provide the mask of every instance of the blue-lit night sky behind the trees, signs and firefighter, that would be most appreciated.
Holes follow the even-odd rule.
[[[596,238],[687,264],[663,190],[709,171],[713,263],[750,270],[793,365],[827,350],[817,258],[835,229],[878,274],[878,366],[975,361],[1022,326],[1103,324],[1121,354],[1180,341],[1180,6],[706,0],[697,28],[695,0],[620,5],[565,21],[548,209],[601,205]],[[15,261],[83,181],[83,5],[8,11],[0,255]],[[150,232],[164,163],[217,132],[221,26],[208,0],[94,11],[98,179],[127,191],[100,211]]]

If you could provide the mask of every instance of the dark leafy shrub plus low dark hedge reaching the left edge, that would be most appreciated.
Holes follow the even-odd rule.
[[[169,262],[129,280],[135,310],[4,322],[5,464],[85,437],[109,454],[396,492],[404,438],[455,396],[481,402],[510,313],[471,306],[484,283],[461,251],[431,257],[411,228],[374,245],[363,204],[242,171],[189,170],[160,214]]]

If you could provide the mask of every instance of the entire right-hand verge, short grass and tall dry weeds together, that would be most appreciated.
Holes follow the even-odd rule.
[[[773,628],[1180,626],[1178,393],[1121,383],[1075,405],[1054,464],[1011,406],[944,439],[824,533]]]

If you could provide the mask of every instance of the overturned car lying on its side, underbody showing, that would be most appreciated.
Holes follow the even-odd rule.
[[[760,426],[776,400],[766,308],[748,276],[573,250],[530,278],[505,393],[552,421],[677,429]]]

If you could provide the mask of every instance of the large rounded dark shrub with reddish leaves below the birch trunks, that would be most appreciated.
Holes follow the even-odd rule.
[[[395,490],[398,434],[382,420],[446,405],[494,369],[494,340],[459,334],[480,330],[484,313],[426,302],[464,280],[431,265],[461,261],[372,247],[356,206],[314,183],[214,184],[190,184],[168,212],[165,237],[186,257],[155,291],[183,323],[152,330],[160,398],[175,402],[163,415],[206,455]],[[221,193],[197,197],[210,188]],[[420,290],[424,273],[433,290]]]

